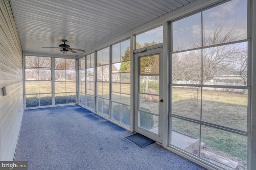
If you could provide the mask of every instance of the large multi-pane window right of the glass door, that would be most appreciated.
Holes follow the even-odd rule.
[[[228,164],[216,155],[246,169],[246,2],[232,0],[171,22],[169,144],[222,168]]]

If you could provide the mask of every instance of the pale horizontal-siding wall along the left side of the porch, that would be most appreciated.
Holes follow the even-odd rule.
[[[9,1],[0,9],[0,160],[13,160],[24,112],[22,48]]]

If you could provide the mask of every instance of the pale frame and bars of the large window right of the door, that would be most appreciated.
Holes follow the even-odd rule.
[[[195,12],[192,12],[190,14],[186,14],[180,18],[177,18],[177,19],[174,19],[174,20],[170,20],[168,22],[168,31],[169,31],[169,65],[170,65],[170,74],[169,74],[169,80],[170,80],[170,83],[169,83],[169,111],[168,111],[168,116],[169,116],[169,132],[168,132],[168,147],[170,148],[170,150],[180,150],[181,152],[184,152],[188,155],[190,155],[191,157],[193,158],[196,158],[197,160],[199,159],[199,161],[201,162],[208,162],[207,160],[202,160],[201,158],[197,157],[197,156],[194,156],[192,154],[190,154],[189,152],[187,152],[186,150],[182,150],[178,147],[175,147],[174,145],[171,144],[171,131],[172,131],[172,121],[171,121],[171,118],[172,117],[175,117],[175,118],[178,118],[178,119],[181,119],[181,120],[184,120],[184,121],[191,121],[191,122],[194,122],[194,123],[198,123],[201,125],[205,125],[205,126],[208,126],[208,127],[213,127],[213,128],[216,128],[216,129],[220,129],[220,130],[224,130],[224,131],[227,131],[227,132],[232,132],[232,133],[235,133],[235,134],[238,134],[238,135],[242,135],[242,136],[245,136],[247,137],[247,167],[250,167],[250,150],[251,150],[251,146],[250,146],[250,132],[251,132],[251,75],[252,75],[252,64],[251,61],[252,61],[252,54],[251,54],[251,48],[250,48],[250,45],[251,45],[251,39],[250,39],[250,0],[248,0],[248,4],[247,4],[247,37],[246,39],[242,39],[242,40],[238,40],[238,41],[232,41],[232,42],[228,42],[228,43],[222,43],[222,44],[217,44],[217,45],[209,45],[209,46],[202,46],[201,47],[197,47],[197,48],[191,48],[191,49],[184,49],[184,50],[181,50],[181,51],[172,51],[172,40],[173,40],[173,37],[172,37],[172,23],[174,21],[178,21],[178,20],[182,20],[183,18],[186,18],[186,17],[189,17],[189,16],[192,16],[194,14],[197,14],[197,13],[201,13],[201,16],[202,16],[202,13],[203,11],[205,10],[208,10],[210,8],[214,8],[215,6],[219,6],[221,4],[224,4],[228,1],[224,1],[222,3],[218,3],[218,4],[214,4],[214,5],[211,5],[211,6],[208,6],[206,8],[203,8],[203,9],[200,9],[200,10],[197,10]],[[202,25],[202,17],[201,17],[201,25]],[[203,31],[203,30],[201,30]],[[206,85],[206,84],[175,84],[173,83],[173,80],[172,80],[172,54],[175,54],[175,53],[181,53],[181,52],[187,52],[187,51],[192,51],[192,50],[203,50],[203,49],[206,49],[206,48],[211,48],[211,47],[218,47],[220,45],[230,45],[230,44],[236,44],[236,43],[244,43],[246,42],[247,43],[247,50],[248,50],[248,54],[247,54],[247,86],[218,86],[218,85]],[[203,55],[203,54],[202,54]],[[201,59],[202,61],[202,59]],[[201,80],[202,80],[203,77],[201,77]],[[244,90],[248,90],[248,94],[247,94],[247,125],[246,125],[246,131],[243,131],[243,130],[240,130],[240,129],[236,129],[236,128],[230,128],[230,127],[226,127],[226,126],[223,126],[223,125],[217,125],[217,124],[214,124],[214,123],[209,123],[209,122],[205,122],[205,121],[202,121],[202,111],[201,111],[201,118],[200,120],[196,120],[196,119],[192,119],[192,118],[189,118],[189,117],[184,117],[184,116],[180,116],[180,115],[175,115],[175,114],[172,114],[172,86],[180,86],[180,87],[185,87],[185,86],[190,86],[190,87],[199,87],[201,88],[201,98],[202,98],[202,91],[203,91],[203,88],[234,88],[234,89],[244,89]],[[202,110],[202,99],[201,99],[201,110]],[[200,130],[200,133],[201,133],[201,130]],[[201,135],[200,135],[200,140],[201,140]],[[210,163],[210,162],[208,162]],[[211,163],[210,163],[211,164]]]

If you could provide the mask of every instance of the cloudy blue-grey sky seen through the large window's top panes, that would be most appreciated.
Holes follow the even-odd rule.
[[[223,25],[224,31],[243,34],[241,39],[246,39],[247,27],[247,0],[232,0],[197,13],[184,19],[173,22],[173,43],[174,49],[177,47],[190,46],[190,41],[201,40],[201,21],[204,33],[212,33],[215,26]],[[202,14],[202,20],[201,20]]]

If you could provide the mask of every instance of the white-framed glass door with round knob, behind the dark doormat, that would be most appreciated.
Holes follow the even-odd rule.
[[[160,142],[160,58],[162,47],[137,53],[136,57],[136,126],[135,131]]]

